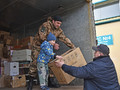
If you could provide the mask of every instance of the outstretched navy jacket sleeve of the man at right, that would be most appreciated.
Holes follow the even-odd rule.
[[[94,66],[87,64],[82,67],[68,66],[64,64],[62,70],[77,78],[93,78],[95,74]]]

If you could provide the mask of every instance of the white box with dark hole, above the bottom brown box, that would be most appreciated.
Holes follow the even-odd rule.
[[[4,64],[4,74],[10,76],[19,75],[19,62],[6,62]]]

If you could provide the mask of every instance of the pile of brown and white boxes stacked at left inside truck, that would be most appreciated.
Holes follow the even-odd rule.
[[[15,39],[9,32],[0,31],[0,88],[26,86],[26,76],[20,73],[20,67],[24,67],[22,61],[32,60],[32,40],[32,36]],[[28,65],[25,63],[25,66]]]

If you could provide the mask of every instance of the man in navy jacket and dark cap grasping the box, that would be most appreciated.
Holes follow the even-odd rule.
[[[93,62],[83,67],[74,67],[56,61],[66,73],[84,79],[84,90],[120,90],[115,66],[109,56],[109,48],[100,44],[93,46],[95,51]]]

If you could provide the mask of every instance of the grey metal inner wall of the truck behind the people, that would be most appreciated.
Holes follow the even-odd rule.
[[[66,9],[61,13],[59,12],[59,14],[63,18],[61,28],[65,35],[75,44],[76,47],[80,47],[87,62],[92,61],[93,52],[91,47],[95,45],[96,40],[92,4],[85,1],[77,6]],[[18,36],[34,36],[43,21],[45,20],[19,28],[21,29],[21,32],[18,32],[20,34]],[[24,34],[22,34],[23,32]],[[55,51],[57,54],[62,54],[69,49],[62,42],[58,43],[60,44],[60,50]],[[79,85],[81,83],[82,80],[77,78],[71,83],[71,85]]]

